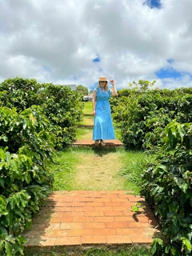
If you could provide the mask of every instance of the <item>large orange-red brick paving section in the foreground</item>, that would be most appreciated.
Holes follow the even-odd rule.
[[[144,198],[126,191],[56,191],[24,232],[25,246],[147,245],[160,235],[157,226]]]

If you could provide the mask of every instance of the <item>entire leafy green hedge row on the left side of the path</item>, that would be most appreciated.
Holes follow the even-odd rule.
[[[23,255],[30,227],[53,187],[54,150],[75,137],[81,95],[69,87],[7,79],[0,85],[0,254]]]

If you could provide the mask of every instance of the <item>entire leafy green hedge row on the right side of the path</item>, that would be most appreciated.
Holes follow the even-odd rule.
[[[140,194],[156,214],[166,240],[154,239],[154,255],[192,253],[192,88],[149,90],[130,84],[114,98],[114,120],[127,148],[156,154],[142,175]],[[154,83],[152,83],[154,85]]]

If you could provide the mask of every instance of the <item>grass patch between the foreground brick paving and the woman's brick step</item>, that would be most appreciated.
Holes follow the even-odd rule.
[[[86,170],[94,171],[95,168],[95,170],[98,171],[98,165],[102,165],[102,162],[106,161],[106,167],[110,168],[111,173],[112,170],[118,170],[118,175],[122,177],[118,178],[118,176],[114,174],[114,180],[117,179],[118,182],[117,187],[114,187],[116,183],[112,180],[112,190],[133,190],[134,194],[138,194],[140,190],[138,184],[141,182],[141,174],[148,159],[149,156],[141,151],[128,151],[121,148],[95,149],[89,147],[72,147],[58,152],[54,157],[55,163],[50,163],[48,169],[54,175],[54,190],[87,190],[86,181],[84,181],[84,184],[83,179],[82,182],[75,180],[79,174],[79,168],[84,166],[84,175],[86,177]],[[107,160],[110,161],[107,162]],[[103,168],[103,166],[101,166],[101,168]],[[82,167],[80,169],[82,169]],[[109,190],[112,186],[112,184],[107,183],[108,180],[110,182],[110,176],[106,178],[105,175],[107,174],[103,173],[103,177],[105,177],[106,180],[103,184],[103,190]],[[122,182],[122,185],[119,184],[119,182]],[[88,190],[91,188],[97,190],[96,181],[93,180],[90,184],[91,187],[88,187]]]

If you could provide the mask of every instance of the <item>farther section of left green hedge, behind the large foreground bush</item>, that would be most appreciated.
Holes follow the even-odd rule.
[[[41,106],[57,137],[57,148],[70,144],[82,121],[82,95],[69,86],[38,84],[35,79],[6,79],[0,84],[0,106],[21,112],[31,106]]]

